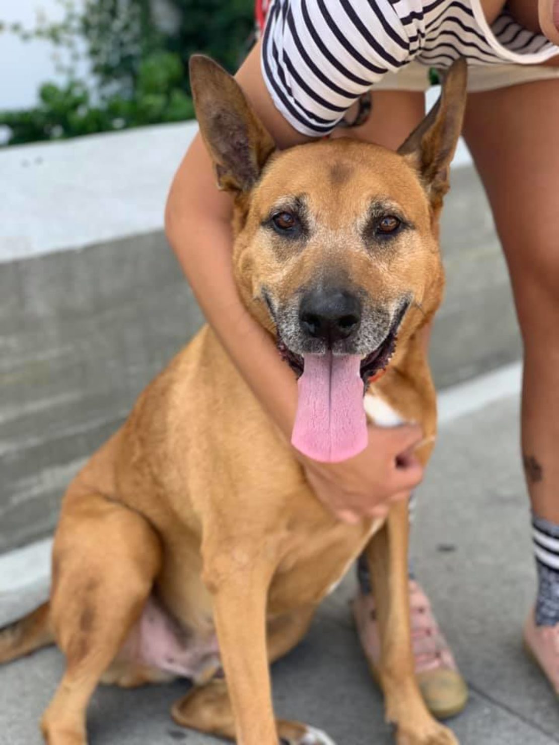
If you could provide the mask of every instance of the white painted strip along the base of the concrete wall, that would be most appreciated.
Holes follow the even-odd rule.
[[[518,395],[521,382],[522,365],[516,363],[443,390],[438,396],[440,425]],[[38,582],[46,583],[51,547],[52,539],[45,539],[0,556],[0,596]]]

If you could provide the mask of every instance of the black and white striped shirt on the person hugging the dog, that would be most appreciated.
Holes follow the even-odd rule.
[[[329,133],[359,96],[411,60],[444,69],[541,64],[559,48],[504,11],[491,28],[479,0],[272,0],[262,75],[303,134]]]

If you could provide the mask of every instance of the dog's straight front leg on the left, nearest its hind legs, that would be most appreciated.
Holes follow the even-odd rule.
[[[225,565],[227,563],[227,565]],[[209,559],[204,581],[213,597],[215,627],[239,745],[277,745],[266,647],[266,605],[273,567],[262,555]]]

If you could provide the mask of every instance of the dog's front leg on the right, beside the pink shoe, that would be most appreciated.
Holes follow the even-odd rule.
[[[426,708],[414,673],[408,596],[408,504],[391,507],[382,530],[367,545],[381,641],[379,677],[386,718],[399,745],[458,745]]]

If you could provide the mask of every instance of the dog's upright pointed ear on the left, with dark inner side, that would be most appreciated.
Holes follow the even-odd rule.
[[[244,98],[239,83],[218,63],[195,54],[190,58],[190,83],[200,134],[214,162],[218,187],[250,191],[274,140]]]

